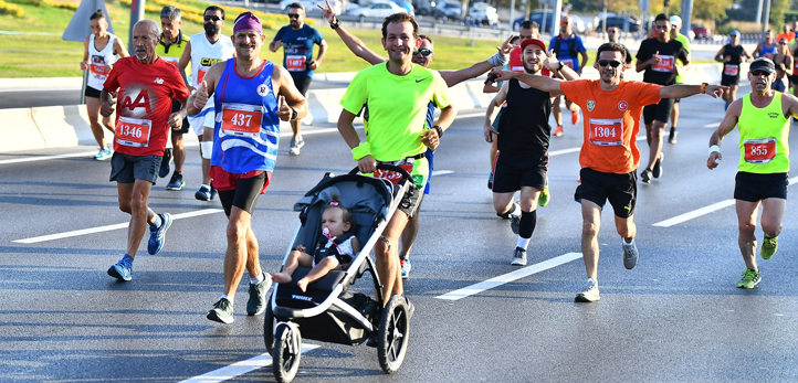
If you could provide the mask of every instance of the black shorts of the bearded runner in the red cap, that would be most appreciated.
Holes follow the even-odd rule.
[[[493,169],[493,192],[512,193],[522,187],[543,190],[546,187],[548,153],[545,151],[528,157],[512,157],[498,152]]]

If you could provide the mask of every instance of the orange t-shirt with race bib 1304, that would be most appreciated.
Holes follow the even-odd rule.
[[[621,79],[615,91],[607,92],[599,82],[577,79],[559,85],[585,117],[579,164],[605,173],[628,173],[640,164],[637,136],[643,106],[660,102],[662,86]]]

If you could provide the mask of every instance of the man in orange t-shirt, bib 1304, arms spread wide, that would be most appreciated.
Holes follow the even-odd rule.
[[[666,33],[668,29],[663,31]],[[640,164],[640,151],[636,137],[640,131],[643,106],[657,104],[663,97],[684,98],[699,93],[720,97],[726,88],[707,84],[660,86],[622,81],[620,75],[626,58],[623,45],[605,43],[598,52],[599,61],[595,67],[599,71],[600,79],[563,82],[531,74],[491,72],[502,81],[517,78],[543,92],[563,92],[585,113],[585,141],[579,153],[581,184],[574,195],[581,203],[584,221],[581,251],[588,287],[576,296],[576,301],[582,302],[599,300],[598,232],[601,210],[607,200],[616,213],[618,234],[623,238],[623,265],[631,269],[638,262],[633,214],[638,190],[636,169]]]

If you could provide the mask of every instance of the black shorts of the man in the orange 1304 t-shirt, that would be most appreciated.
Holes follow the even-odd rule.
[[[579,171],[581,183],[576,188],[574,200],[580,202],[588,200],[603,209],[607,200],[610,201],[616,215],[628,219],[634,214],[634,204],[638,200],[638,174],[605,173],[582,168]]]

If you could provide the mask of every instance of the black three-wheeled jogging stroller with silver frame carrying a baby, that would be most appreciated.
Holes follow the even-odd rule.
[[[391,183],[385,179],[358,174],[358,168],[348,174],[334,177],[326,173],[316,187],[294,205],[300,212],[300,226],[283,259],[297,245],[314,248],[321,237],[321,217],[332,195],[355,216],[353,228],[364,244],[354,256],[347,270],[330,270],[309,284],[303,292],[296,281],[311,270],[297,267],[292,283],[275,284],[267,299],[263,322],[263,340],[272,354],[272,366],[277,382],[291,382],[300,369],[302,338],[323,342],[359,345],[377,336],[377,355],[380,368],[388,374],[399,370],[407,352],[410,321],[407,300],[393,296],[382,308],[381,284],[375,262],[369,256],[374,245],[399,206],[412,182],[402,168],[379,164],[378,169],[392,171]],[[349,287],[365,273],[370,273],[377,300],[368,295],[349,291]]]

